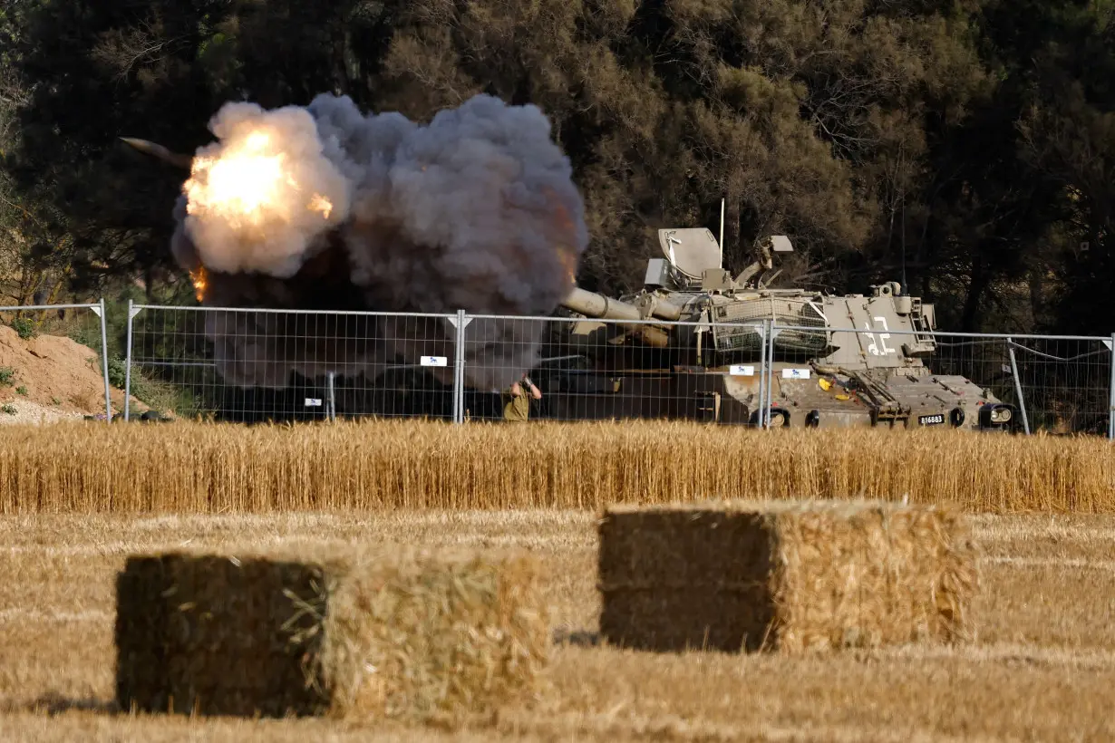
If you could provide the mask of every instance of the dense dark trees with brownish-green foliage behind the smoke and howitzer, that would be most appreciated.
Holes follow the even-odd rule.
[[[590,289],[723,197],[728,267],[785,233],[792,278],[904,276],[943,327],[1109,333],[1113,36],[1107,0],[3,0],[0,302],[173,285],[181,174],[120,135],[193,151],[230,99],[426,119],[487,91],[551,117]]]

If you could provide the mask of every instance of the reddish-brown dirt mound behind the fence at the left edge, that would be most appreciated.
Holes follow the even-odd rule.
[[[124,392],[110,392],[113,412],[124,410]],[[80,419],[105,414],[105,378],[97,352],[68,338],[25,341],[0,325],[0,423]],[[132,411],[147,409],[132,397]]]

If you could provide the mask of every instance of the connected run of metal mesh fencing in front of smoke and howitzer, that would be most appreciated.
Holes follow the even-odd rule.
[[[157,380],[190,418],[1115,433],[1111,338],[154,305],[128,316],[125,389],[133,372]]]

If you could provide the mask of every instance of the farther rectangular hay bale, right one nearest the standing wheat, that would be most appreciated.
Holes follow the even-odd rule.
[[[600,632],[611,644],[794,654],[971,633],[976,548],[952,508],[615,507],[599,536]]]

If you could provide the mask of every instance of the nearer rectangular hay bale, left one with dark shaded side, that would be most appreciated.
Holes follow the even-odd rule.
[[[540,691],[539,578],[514,554],[133,556],[117,577],[117,701],[465,724]]]

